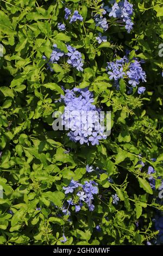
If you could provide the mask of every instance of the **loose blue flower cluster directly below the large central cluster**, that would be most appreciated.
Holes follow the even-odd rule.
[[[93,197],[98,194],[98,184],[95,181],[84,181],[84,185],[80,184],[78,181],[71,180],[67,187],[63,187],[65,194],[72,194],[73,199],[67,200],[68,206],[63,206],[62,212],[65,215],[71,215],[69,211],[70,205],[75,206],[75,211],[78,212],[84,204],[86,204],[90,211],[95,209],[95,205],[92,204]]]

